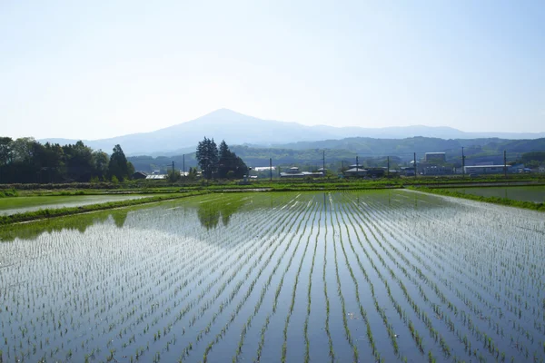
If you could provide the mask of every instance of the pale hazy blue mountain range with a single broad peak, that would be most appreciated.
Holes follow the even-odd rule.
[[[225,140],[229,145],[252,144],[278,147],[294,142],[318,142],[349,137],[378,139],[403,139],[413,136],[441,139],[538,139],[545,132],[462,132],[451,127],[408,126],[408,127],[333,127],[326,125],[306,126],[300,123],[262,120],[256,117],[221,109],[208,113],[193,121],[179,123],[154,132],[132,133],[101,140],[83,140],[93,149],[110,152],[120,144],[127,155],[172,155],[194,152],[203,137],[213,137],[219,143]],[[71,139],[43,139],[40,142],[74,143]]]

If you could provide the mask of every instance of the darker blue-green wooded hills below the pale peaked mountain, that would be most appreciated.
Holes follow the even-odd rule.
[[[309,168],[322,165],[325,150],[326,164],[350,164],[356,156],[360,162],[367,164],[385,164],[387,156],[391,161],[410,162],[416,152],[417,160],[424,157],[425,152],[445,152],[447,162],[461,163],[461,148],[464,148],[466,164],[478,162],[502,163],[503,151],[508,152],[508,160],[515,161],[524,152],[545,151],[545,138],[537,140],[503,140],[503,139],[458,139],[443,140],[429,137],[411,137],[406,139],[372,139],[367,137],[352,137],[342,140],[325,140],[321,142],[295,142],[273,147],[258,145],[230,145],[238,156],[249,166],[268,166],[269,158],[273,165],[307,165]],[[161,157],[133,156],[128,158],[136,170],[152,171],[166,170],[175,162],[176,168],[182,169],[182,155]],[[194,149],[185,153],[186,170],[196,166]]]

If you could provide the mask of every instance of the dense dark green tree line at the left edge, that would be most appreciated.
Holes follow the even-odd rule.
[[[60,145],[0,137],[0,183],[122,182],[133,173],[120,145],[108,155],[81,141]]]

